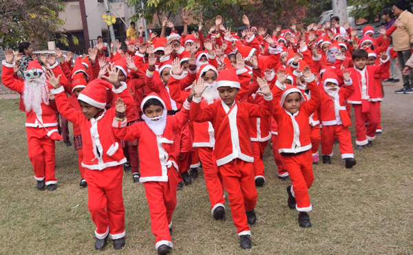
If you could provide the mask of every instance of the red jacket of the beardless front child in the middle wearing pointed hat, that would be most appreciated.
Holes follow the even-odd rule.
[[[264,98],[262,105],[248,102],[234,102],[231,109],[224,102],[214,102],[206,108],[201,108],[202,98],[193,98],[191,103],[191,120],[194,122],[211,122],[215,140],[220,141],[215,146],[214,155],[218,166],[242,159],[254,162],[250,142],[249,118],[263,118],[273,113],[273,96]]]

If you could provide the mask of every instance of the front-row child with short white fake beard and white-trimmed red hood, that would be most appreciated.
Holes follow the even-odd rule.
[[[173,247],[171,241],[172,214],[176,207],[178,164],[173,148],[173,133],[182,129],[189,121],[188,100],[180,112],[167,115],[165,102],[156,93],[144,98],[140,108],[145,122],[127,126],[126,107],[118,99],[113,126],[114,133],[122,140],[139,140],[140,179],[145,186],[151,229],[156,238],[158,254],[167,254]]]

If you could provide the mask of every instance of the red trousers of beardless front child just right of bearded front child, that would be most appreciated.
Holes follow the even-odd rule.
[[[257,189],[254,181],[254,165],[241,159],[234,159],[222,166],[218,166],[222,181],[228,191],[231,215],[238,236],[251,235],[251,230],[246,221],[246,211],[253,210],[257,203]]]

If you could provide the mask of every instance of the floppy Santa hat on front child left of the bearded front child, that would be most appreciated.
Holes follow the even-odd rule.
[[[95,79],[79,94],[78,100],[81,100],[93,107],[105,109],[106,107],[106,89],[112,89],[112,84],[106,80]]]

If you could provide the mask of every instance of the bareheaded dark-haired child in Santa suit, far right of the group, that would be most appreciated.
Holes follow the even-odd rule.
[[[357,49],[352,54],[354,68],[349,68],[351,73],[354,93],[348,98],[348,102],[354,107],[356,119],[356,149],[361,151],[364,146],[371,147],[375,139],[379,115],[377,112],[377,102],[372,98],[377,96],[377,85],[374,76],[385,74],[390,69],[389,57],[386,54],[380,56],[382,65],[367,65],[368,52],[365,49]],[[343,71],[339,68],[342,60],[336,58],[336,73],[339,78]],[[366,122],[368,122],[366,130]]]

